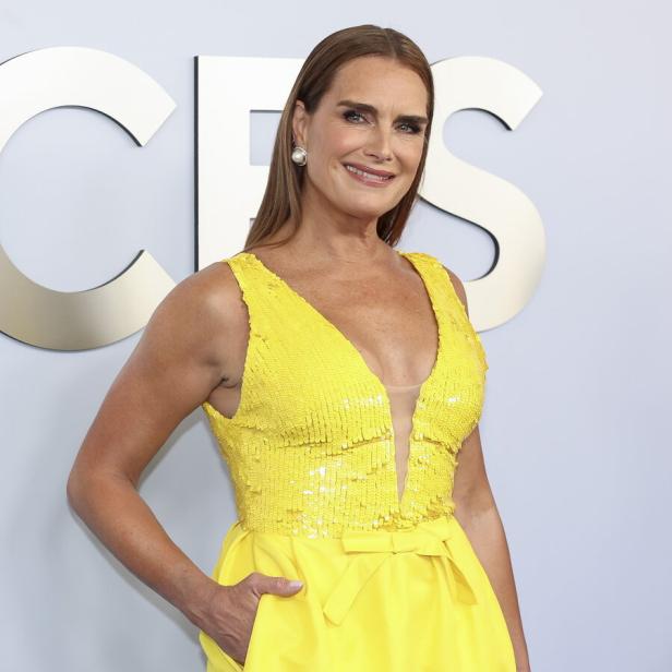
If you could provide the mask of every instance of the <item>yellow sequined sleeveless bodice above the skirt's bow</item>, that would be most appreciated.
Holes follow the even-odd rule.
[[[202,407],[245,529],[339,537],[454,512],[457,455],[483,405],[485,352],[441,263],[423,252],[399,254],[422,278],[439,326],[434,367],[407,418],[400,499],[394,425],[404,419],[393,421],[393,407],[404,399],[395,404],[353,344],[254,254],[224,260],[250,319],[241,396],[231,418]]]

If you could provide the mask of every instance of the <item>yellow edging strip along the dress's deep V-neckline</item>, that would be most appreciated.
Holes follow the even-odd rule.
[[[296,289],[293,289],[293,287],[291,287],[289,283],[284,280],[274,271],[268,268],[268,266],[266,266],[266,264],[264,264],[264,262],[262,262],[262,260],[259,256],[256,256],[256,254],[254,254],[253,252],[240,252],[239,254],[248,255],[249,257],[253,259],[257,263],[260,268],[262,268],[265,273],[267,273],[271,277],[273,277],[277,283],[279,283],[290,295],[292,295],[296,299],[298,299],[299,302],[305,309],[308,309],[317,320],[320,320],[353,353],[356,360],[359,362],[360,368],[363,370],[363,373],[373,382],[375,387],[377,387],[379,394],[382,395],[382,398],[385,401],[386,423],[387,423],[387,430],[391,435],[393,457],[394,457],[392,472],[394,477],[395,503],[397,506],[397,511],[401,512],[404,504],[409,496],[408,485],[410,482],[411,471],[413,467],[413,458],[415,458],[413,434],[416,433],[417,420],[418,420],[420,410],[424,408],[427,391],[429,386],[431,385],[432,381],[434,380],[435,375],[437,374],[439,367],[442,362],[442,357],[443,357],[443,352],[445,348],[445,343],[444,343],[445,333],[444,333],[444,324],[442,321],[441,313],[436,308],[436,299],[434,297],[434,289],[433,289],[432,283],[430,283],[424,275],[424,268],[422,268],[420,264],[416,263],[412,256],[413,255],[412,252],[401,252],[399,250],[395,250],[395,252],[399,254],[399,256],[403,256],[406,260],[408,260],[408,262],[411,264],[416,273],[420,276],[420,279],[422,280],[422,285],[429,298],[430,305],[432,308],[432,313],[436,322],[436,331],[437,331],[437,344],[436,344],[436,355],[434,358],[434,364],[432,365],[432,370],[430,371],[430,374],[424,379],[422,383],[419,384],[420,391],[416,398],[416,404],[413,406],[413,411],[411,415],[411,429],[410,429],[410,435],[408,437],[408,457],[406,461],[406,476],[404,478],[404,488],[401,490],[401,496],[399,496],[399,492],[398,492],[399,478],[398,478],[398,469],[397,469],[397,461],[396,461],[397,449],[396,449],[396,437],[395,437],[395,431],[394,431],[394,424],[393,424],[392,401],[389,399],[389,394],[387,392],[387,387],[385,386],[385,383],[383,383],[383,381],[381,381],[379,375],[374,373],[371,367],[369,367],[363,355],[358,350],[355,344],[328,317],[326,317],[326,315],[324,315],[308,299],[305,299],[305,297],[303,297]]]

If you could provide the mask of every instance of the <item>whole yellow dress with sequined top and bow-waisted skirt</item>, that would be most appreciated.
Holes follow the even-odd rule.
[[[248,672],[515,672],[500,603],[453,515],[485,352],[441,263],[398,253],[423,280],[439,326],[434,367],[406,422],[408,394],[386,387],[311,303],[253,253],[224,260],[250,337],[235,415],[203,404],[238,512],[212,577],[303,581],[292,596],[261,596]],[[400,497],[395,425],[407,428],[409,452]],[[205,632],[199,639],[207,672],[243,669]]]

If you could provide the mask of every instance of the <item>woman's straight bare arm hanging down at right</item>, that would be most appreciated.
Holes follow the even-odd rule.
[[[464,285],[455,274],[448,273],[468,314]],[[478,424],[459,451],[453,499],[456,504],[455,517],[467,533],[502,608],[514,646],[516,669],[519,672],[527,672],[530,669],[529,655],[523,632],[511,554],[504,526],[488,481]]]

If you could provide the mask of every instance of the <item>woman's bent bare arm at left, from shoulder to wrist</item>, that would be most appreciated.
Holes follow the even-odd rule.
[[[187,278],[157,307],[67,488],[73,509],[117,559],[197,626],[217,584],[171,541],[136,489],[175,428],[221,380],[229,297],[238,301],[221,266]]]

